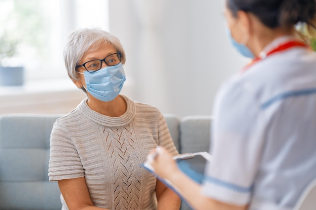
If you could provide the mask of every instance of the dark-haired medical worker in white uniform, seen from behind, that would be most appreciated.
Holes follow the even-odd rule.
[[[194,209],[293,209],[316,177],[316,55],[295,31],[315,30],[315,8],[315,0],[226,1],[229,37],[253,61],[217,94],[203,183],[164,148],[147,157]]]

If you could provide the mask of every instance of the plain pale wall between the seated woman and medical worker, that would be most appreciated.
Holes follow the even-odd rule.
[[[122,93],[178,116],[209,115],[220,84],[246,63],[226,35],[224,0],[110,0],[126,51]]]

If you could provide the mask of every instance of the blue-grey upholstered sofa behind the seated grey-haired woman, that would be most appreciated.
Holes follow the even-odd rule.
[[[61,209],[58,184],[47,176],[50,131],[60,116],[0,116],[0,210]],[[210,116],[165,118],[180,153],[209,150]]]

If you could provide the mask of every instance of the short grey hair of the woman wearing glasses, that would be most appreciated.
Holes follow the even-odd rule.
[[[68,76],[71,80],[79,80],[76,74],[76,65],[85,53],[97,49],[101,44],[111,44],[117,52],[121,52],[121,63],[126,60],[125,52],[120,40],[99,28],[84,28],[69,34],[64,49],[64,60]]]

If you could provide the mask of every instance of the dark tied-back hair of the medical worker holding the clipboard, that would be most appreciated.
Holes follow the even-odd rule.
[[[315,29],[315,0],[227,0],[236,17],[239,10],[252,13],[269,28],[292,27],[302,22]]]

